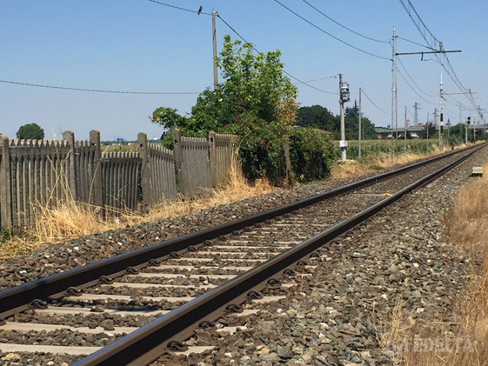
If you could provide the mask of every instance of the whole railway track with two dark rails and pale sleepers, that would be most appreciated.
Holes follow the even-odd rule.
[[[181,341],[222,312],[247,316],[280,299],[297,278],[311,276],[320,260],[314,250],[477,149],[0,292],[0,350],[74,355],[70,360],[90,354],[79,365],[116,365],[148,363],[167,348],[211,348],[186,350]]]

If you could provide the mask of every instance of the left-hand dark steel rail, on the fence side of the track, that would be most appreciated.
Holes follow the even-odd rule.
[[[190,245],[198,245],[205,240],[212,240],[219,236],[225,236],[233,231],[244,229],[247,226],[252,226],[258,222],[264,222],[266,219],[273,219],[285,213],[304,208],[308,205],[313,205],[327,198],[344,194],[347,191],[364,187],[367,184],[378,182],[381,179],[400,175],[403,172],[407,172],[414,168],[418,168],[421,165],[426,165],[433,161],[437,161],[440,158],[445,158],[452,154],[459,154],[467,149],[473,149],[474,147],[467,147],[464,149],[449,151],[445,154],[440,154],[434,158],[430,158],[426,161],[407,165],[405,167],[392,170],[391,172],[384,172],[374,177],[362,179],[358,182],[346,184],[345,186],[332,189],[322,194],[317,194],[309,198],[304,198],[294,203],[288,203],[278,208],[259,212],[255,215],[243,217],[241,219],[235,219],[231,222],[212,226],[194,233],[189,233],[184,236],[172,238],[169,240],[161,241],[153,245],[149,245],[144,248],[133,250],[131,252],[116,255],[107,259],[86,264],[84,266],[70,269],[68,271],[57,273],[46,278],[40,278],[29,283],[18,285],[10,289],[0,292],[0,321],[3,318],[28,309],[32,301],[36,299],[50,300],[57,299],[66,295],[66,290],[69,287],[76,287],[82,289],[91,285],[96,285],[102,276],[105,278],[116,278],[126,274],[128,267],[134,267],[140,269],[147,265],[151,259],[163,259],[168,257],[172,252],[179,252],[186,250]]]

